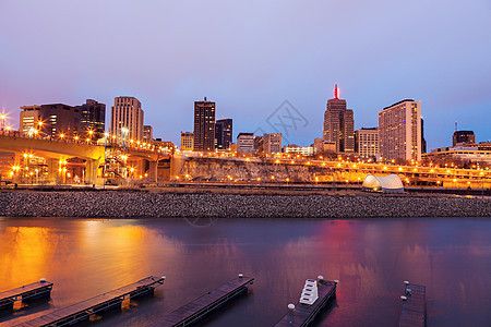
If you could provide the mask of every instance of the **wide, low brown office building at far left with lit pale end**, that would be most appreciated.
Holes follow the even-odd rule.
[[[81,110],[63,104],[21,107],[21,135],[49,138],[84,137]]]

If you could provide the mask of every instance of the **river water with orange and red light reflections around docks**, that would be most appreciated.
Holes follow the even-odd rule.
[[[55,282],[49,302],[16,306],[1,326],[166,276],[153,298],[87,324],[146,326],[239,272],[255,278],[249,294],[202,325],[272,326],[323,275],[339,283],[318,326],[396,326],[404,280],[427,286],[428,326],[491,326],[490,271],[486,218],[0,218],[0,291]]]

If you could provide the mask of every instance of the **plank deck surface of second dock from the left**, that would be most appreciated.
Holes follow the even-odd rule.
[[[145,288],[155,288],[157,284],[161,283],[164,283],[164,278],[151,276],[131,284],[43,315],[36,319],[20,324],[19,326],[50,326],[58,320],[67,319],[79,314],[86,314],[85,312],[92,313],[92,311],[98,306],[107,307],[105,306],[107,304],[120,303],[124,296],[130,295],[134,291]],[[97,310],[94,310],[94,312],[97,312]]]

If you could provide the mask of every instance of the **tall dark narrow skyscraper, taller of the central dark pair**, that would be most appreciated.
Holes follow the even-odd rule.
[[[194,101],[194,150],[215,150],[215,102]]]

